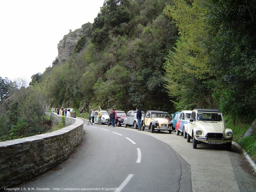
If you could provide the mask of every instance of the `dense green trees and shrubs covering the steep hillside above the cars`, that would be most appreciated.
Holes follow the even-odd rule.
[[[30,87],[41,106],[84,112],[219,108],[242,140],[256,117],[255,21],[250,0],[106,0]]]

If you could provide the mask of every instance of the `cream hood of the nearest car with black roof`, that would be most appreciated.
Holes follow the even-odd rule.
[[[224,133],[224,124],[222,123],[212,123],[212,122],[198,122],[196,123],[198,127],[200,127],[204,133]]]

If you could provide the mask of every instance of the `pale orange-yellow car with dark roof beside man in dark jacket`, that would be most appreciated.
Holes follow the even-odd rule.
[[[147,127],[148,130],[151,130],[151,133],[154,130],[172,133],[172,128],[168,125],[168,119],[166,119],[165,115],[166,112],[164,111],[148,110],[144,117],[142,131]]]

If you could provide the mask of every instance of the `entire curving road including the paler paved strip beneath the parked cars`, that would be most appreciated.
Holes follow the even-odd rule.
[[[85,120],[84,124],[86,134],[77,152],[60,164],[59,169],[20,188],[49,188],[44,191],[98,188],[97,191],[122,192],[256,191],[255,174],[234,145],[230,151],[222,145],[204,143],[193,149],[192,143],[174,132],[87,126]]]

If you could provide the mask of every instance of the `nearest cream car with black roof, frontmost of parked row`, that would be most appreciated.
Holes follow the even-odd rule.
[[[233,131],[226,129],[222,113],[213,109],[194,109],[187,125],[187,142],[192,139],[193,148],[197,144],[226,144],[229,150],[232,146]]]

